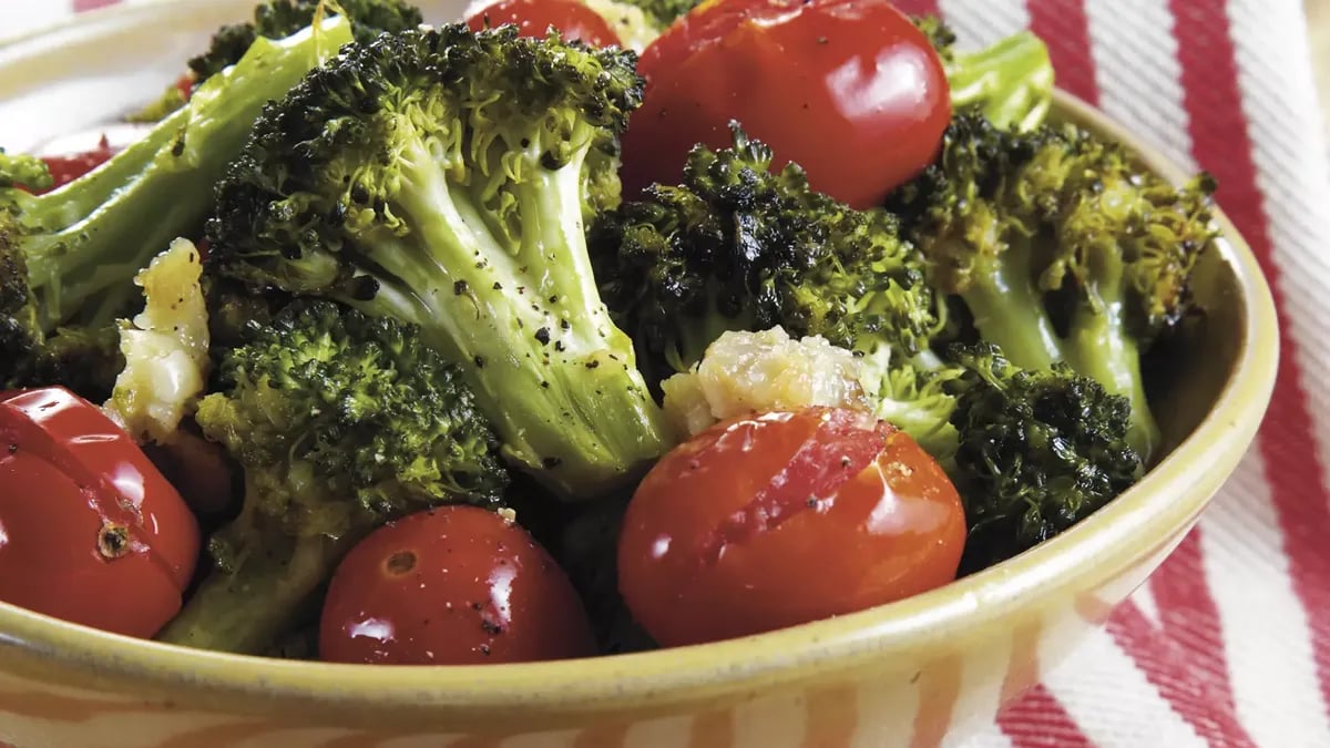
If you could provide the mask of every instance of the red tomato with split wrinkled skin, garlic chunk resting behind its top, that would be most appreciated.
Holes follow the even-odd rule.
[[[759,634],[956,578],[960,496],[908,435],[813,407],[722,422],[676,447],[628,506],[620,591],[662,646]]]

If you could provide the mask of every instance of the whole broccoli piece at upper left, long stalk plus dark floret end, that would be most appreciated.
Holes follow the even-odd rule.
[[[173,240],[202,232],[213,185],[262,106],[350,40],[347,24],[332,19],[317,35],[257,43],[188,106],[84,177],[40,196],[0,186],[0,386],[64,383],[105,399],[122,363],[116,319],[141,301],[134,276]],[[31,158],[0,161],[0,185],[40,188],[49,178]]]

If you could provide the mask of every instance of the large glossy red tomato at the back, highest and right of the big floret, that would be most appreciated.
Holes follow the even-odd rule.
[[[773,168],[876,205],[938,154],[951,92],[938,52],[887,0],[720,0],[642,52],[642,106],[624,134],[624,188],[676,184],[689,149],[733,145],[738,121]]]

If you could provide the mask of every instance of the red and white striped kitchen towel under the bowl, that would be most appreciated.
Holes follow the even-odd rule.
[[[4,0],[0,36],[117,0]],[[129,0],[133,1],[133,0]],[[1325,1],[1325,0],[1310,0]],[[1028,27],[1067,91],[1189,169],[1269,276],[1282,361],[1256,447],[1108,626],[963,748],[1330,747],[1330,176],[1297,0],[899,0],[964,45]],[[431,19],[442,21],[446,19]]]

